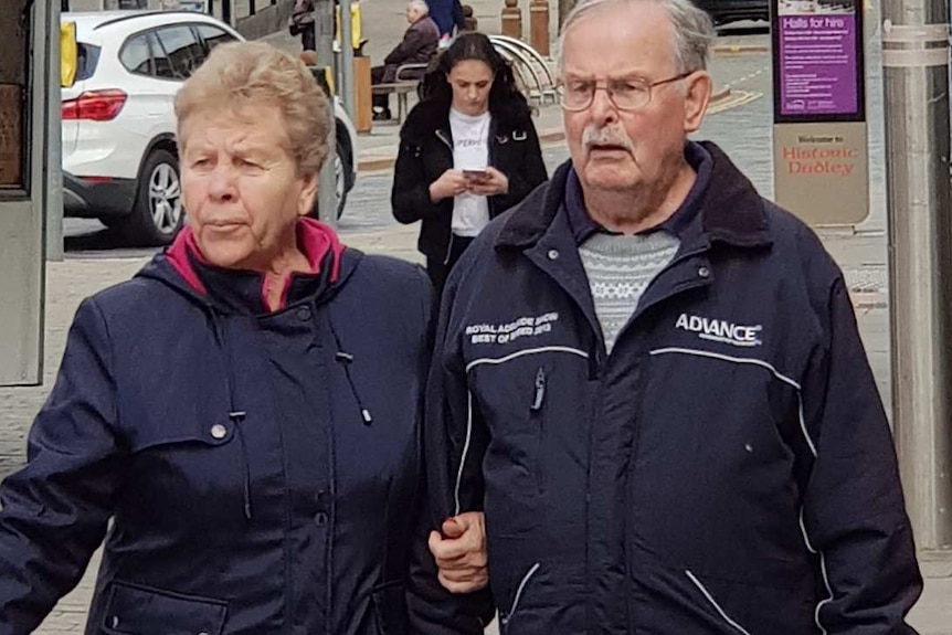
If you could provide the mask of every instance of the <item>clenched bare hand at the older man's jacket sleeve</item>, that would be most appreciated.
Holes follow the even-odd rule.
[[[430,532],[430,552],[440,568],[440,583],[451,593],[472,593],[489,583],[486,522],[482,511],[443,521],[443,533]]]

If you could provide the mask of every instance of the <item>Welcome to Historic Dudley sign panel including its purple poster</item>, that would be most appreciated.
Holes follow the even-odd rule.
[[[869,213],[861,10],[856,0],[773,9],[774,198],[811,225],[855,225]]]

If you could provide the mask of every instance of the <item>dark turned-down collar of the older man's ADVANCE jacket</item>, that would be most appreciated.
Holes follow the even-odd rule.
[[[763,199],[717,145],[710,141],[700,145],[712,160],[709,187],[697,192],[701,232],[710,242],[739,247],[770,245]],[[546,233],[562,208],[571,171],[571,161],[562,163],[546,187],[532,192],[512,211],[496,237],[497,248],[525,248]],[[685,231],[698,226],[697,223],[684,225]],[[678,237],[684,242],[686,236]]]

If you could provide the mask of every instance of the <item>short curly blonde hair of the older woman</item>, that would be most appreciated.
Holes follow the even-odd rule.
[[[220,44],[176,95],[179,155],[186,125],[199,112],[234,112],[274,105],[284,116],[290,147],[303,176],[316,174],[328,151],[331,110],[327,96],[304,63],[263,42]]]

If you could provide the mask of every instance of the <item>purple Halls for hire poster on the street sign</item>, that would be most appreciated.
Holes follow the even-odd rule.
[[[853,2],[780,2],[780,114],[854,115],[859,110]]]

